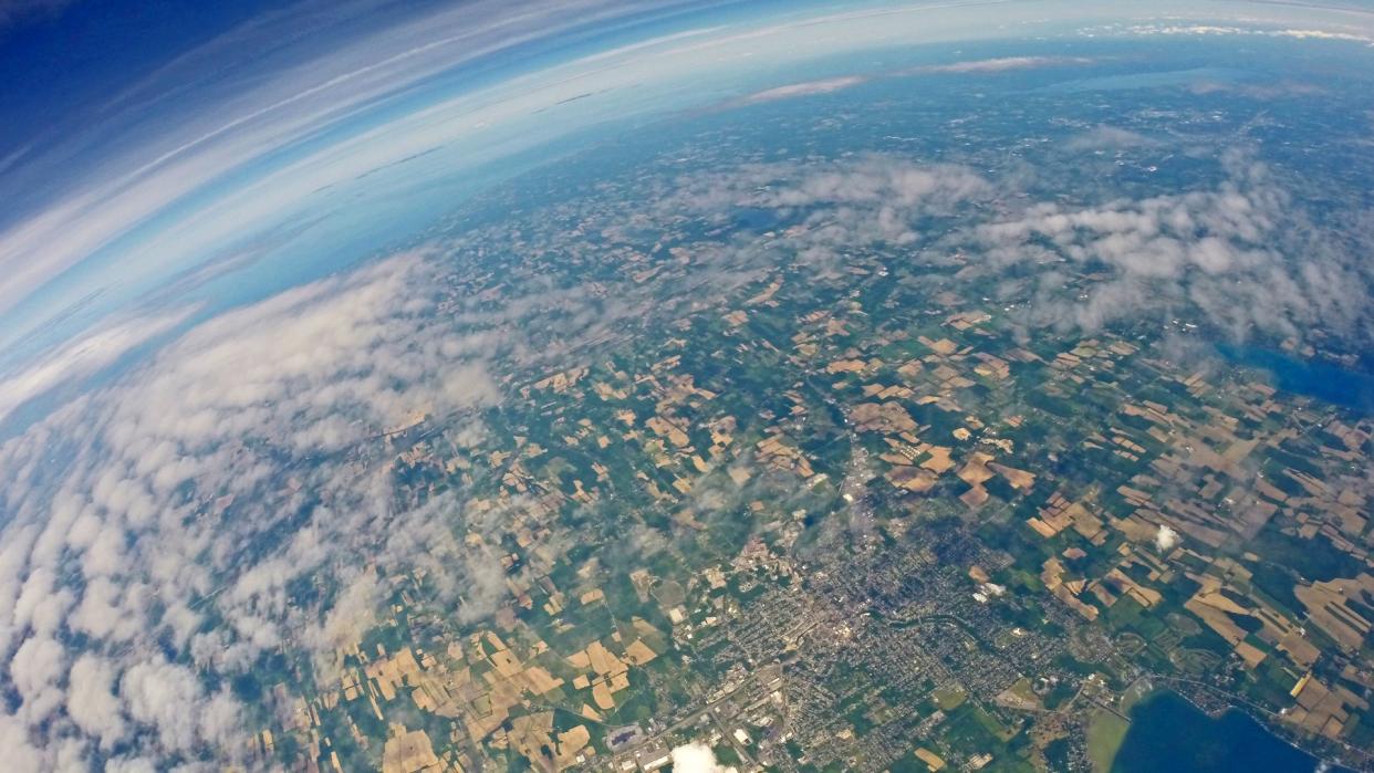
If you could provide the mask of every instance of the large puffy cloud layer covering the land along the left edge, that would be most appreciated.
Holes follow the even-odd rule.
[[[422,549],[385,538],[397,519],[430,522],[437,559],[464,557],[433,533],[456,503],[396,512],[385,468],[352,450],[499,400],[496,338],[442,302],[420,254],[305,286],[201,325],[0,448],[0,687],[18,699],[0,733],[38,761],[25,769],[235,752],[242,707],[188,663],[234,674],[286,641],[354,641],[382,595],[356,556],[385,567]],[[293,608],[289,584],[320,574],[338,597]]]

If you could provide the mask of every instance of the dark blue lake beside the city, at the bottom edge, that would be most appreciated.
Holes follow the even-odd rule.
[[[1241,711],[1208,717],[1173,692],[1157,692],[1131,710],[1131,729],[1113,773],[1311,773],[1312,755],[1274,736]]]

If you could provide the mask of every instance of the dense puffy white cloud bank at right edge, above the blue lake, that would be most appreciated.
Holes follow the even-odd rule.
[[[976,229],[985,272],[1007,264],[1077,264],[1103,273],[1065,295],[1046,273],[1021,312],[1032,327],[1099,330],[1134,319],[1161,324],[1180,314],[1246,341],[1303,336],[1325,328],[1370,334],[1370,268],[1330,243],[1271,170],[1246,152],[1223,154],[1213,189],[1117,199],[1096,206],[1037,203]]]

